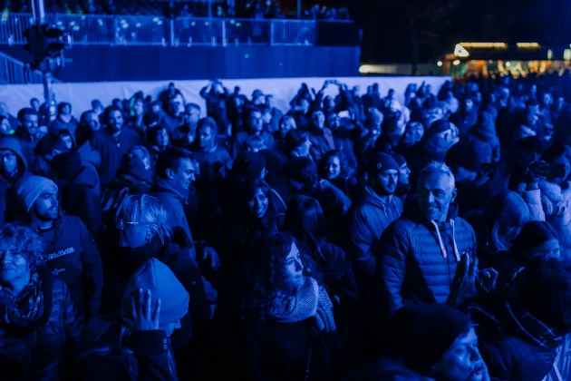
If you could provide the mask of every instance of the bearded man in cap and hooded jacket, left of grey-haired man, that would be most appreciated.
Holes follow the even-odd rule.
[[[369,183],[348,213],[353,269],[361,279],[363,275],[373,276],[376,264],[373,247],[381,239],[382,231],[402,213],[402,201],[393,196],[399,164],[382,152],[374,153],[369,164]]]

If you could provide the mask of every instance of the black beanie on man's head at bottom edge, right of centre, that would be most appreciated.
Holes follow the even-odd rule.
[[[392,333],[404,366],[426,374],[469,324],[466,314],[445,304],[411,305],[394,314]]]

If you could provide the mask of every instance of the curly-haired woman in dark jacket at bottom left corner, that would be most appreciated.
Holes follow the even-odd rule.
[[[0,366],[7,378],[71,379],[76,315],[63,280],[44,267],[34,230],[0,230]]]

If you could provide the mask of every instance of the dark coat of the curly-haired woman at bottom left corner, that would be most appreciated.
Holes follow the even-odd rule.
[[[60,278],[41,267],[32,270],[30,283],[15,300],[18,311],[28,311],[28,299],[34,295],[41,302],[33,321],[23,319],[23,324],[15,324],[11,320],[0,326],[0,366],[5,379],[68,379],[72,376],[77,341],[77,320],[70,291]]]

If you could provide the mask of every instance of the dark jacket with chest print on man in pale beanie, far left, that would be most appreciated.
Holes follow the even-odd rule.
[[[39,230],[46,266],[70,289],[80,316],[99,313],[103,287],[102,259],[82,220],[62,214],[53,229]]]

